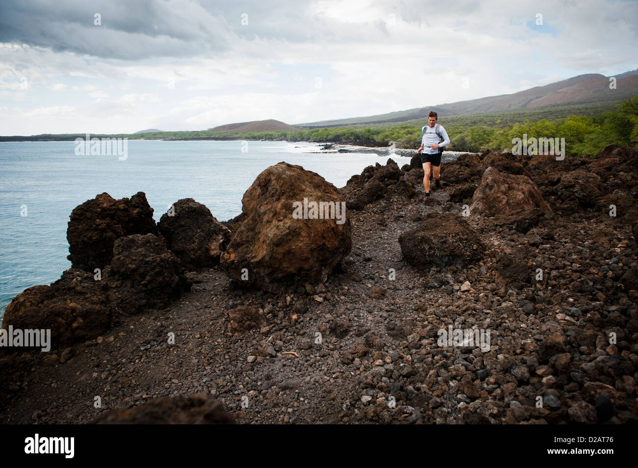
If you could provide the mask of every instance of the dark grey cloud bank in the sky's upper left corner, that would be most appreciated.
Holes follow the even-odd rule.
[[[94,25],[95,13],[101,26]],[[0,3],[1,42],[56,52],[127,60],[184,57],[228,50],[231,35],[223,17],[188,0]]]

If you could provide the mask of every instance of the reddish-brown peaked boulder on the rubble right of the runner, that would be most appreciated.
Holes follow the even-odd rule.
[[[521,210],[540,208],[551,212],[538,187],[529,177],[499,172],[489,167],[472,197],[472,214],[510,215]]]

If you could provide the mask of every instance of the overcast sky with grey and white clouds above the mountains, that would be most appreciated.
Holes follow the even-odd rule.
[[[1,0],[0,134],[296,124],[508,94],[638,68],[637,25],[635,1]]]

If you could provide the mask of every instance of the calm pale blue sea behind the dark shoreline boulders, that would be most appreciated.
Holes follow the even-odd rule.
[[[77,156],[75,142],[0,142],[0,318],[30,286],[50,284],[71,267],[66,228],[73,208],[97,194],[146,194],[154,219],[181,198],[204,203],[218,221],[241,213],[241,199],[268,166],[286,161],[337,187],[375,154],[313,154],[307,142],[163,142],[132,140],[128,157]],[[409,157],[392,156],[399,167]],[[26,216],[23,216],[26,214]]]

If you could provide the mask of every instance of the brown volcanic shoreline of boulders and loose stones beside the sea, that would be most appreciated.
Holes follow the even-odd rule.
[[[54,343],[0,347],[0,421],[635,423],[636,157],[464,154],[429,198],[419,157],[339,189],[279,163],[223,223],[100,194],[73,267],[6,309]],[[304,196],[345,222],[294,219]]]

